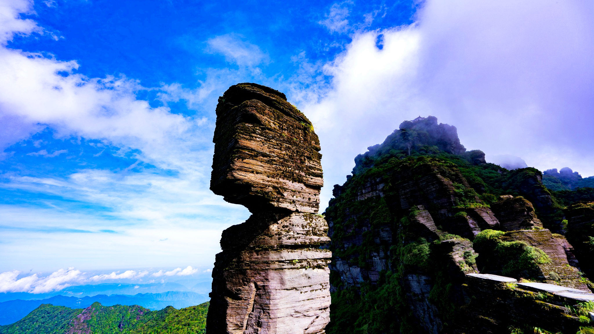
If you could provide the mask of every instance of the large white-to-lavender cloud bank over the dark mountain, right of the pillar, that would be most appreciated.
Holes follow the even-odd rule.
[[[429,0],[410,26],[354,34],[324,67],[330,89],[301,103],[321,139],[323,203],[353,157],[419,115],[456,125],[468,149],[594,175],[592,17],[587,1]]]

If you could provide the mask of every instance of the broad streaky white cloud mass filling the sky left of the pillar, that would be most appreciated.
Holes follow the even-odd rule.
[[[16,33],[43,33],[34,21],[19,18],[20,12],[30,11],[31,4],[23,0],[0,1],[0,36],[4,41]],[[257,46],[239,37],[220,36],[211,42],[214,51],[225,53],[242,66],[267,59]],[[251,51],[256,52],[248,55]],[[245,59],[242,52],[252,58]],[[228,204],[208,190],[214,119],[174,114],[166,106],[153,108],[136,97],[139,90],[153,88],[142,87],[124,76],[89,78],[75,73],[77,69],[75,61],[0,45],[0,123],[7,130],[0,131],[0,151],[50,127],[59,138],[96,138],[103,146],[121,147],[122,152],[137,150],[137,161],[119,171],[80,168],[65,177],[2,174],[2,188],[49,194],[67,201],[39,198],[38,206],[0,206],[0,253],[18,253],[2,261],[0,270],[22,267],[23,263],[36,263],[45,270],[64,263],[80,267],[88,259],[94,259],[95,269],[113,267],[113,263],[138,266],[139,261],[144,266],[171,265],[174,251],[184,254],[177,265],[187,259],[202,259],[200,265],[210,266],[219,250],[220,231],[248,216],[243,207]],[[213,111],[216,96],[229,86],[228,82],[236,83],[247,73],[253,73],[252,69],[213,70],[198,89],[163,84],[156,90],[164,102],[185,99],[191,108],[205,108],[206,103]],[[55,157],[62,153],[67,152],[44,149],[31,155]],[[5,157],[8,153],[0,153],[0,159],[2,154]],[[138,168],[143,163],[155,168]],[[132,172],[134,168],[140,172]],[[69,207],[77,202],[89,205],[83,209]],[[101,209],[99,213],[96,207]],[[220,214],[221,207],[225,215]],[[118,233],[89,233],[84,240],[72,240],[68,232],[102,229]],[[135,247],[157,242],[163,233],[170,234],[169,240],[175,243],[160,242],[168,245],[154,245],[147,253],[126,259],[117,254],[127,250],[134,253]],[[191,247],[197,240],[203,247]],[[89,248],[87,244],[97,247]],[[105,250],[104,244],[113,251]],[[38,248],[42,251],[33,251]],[[189,248],[193,251],[188,252]]]

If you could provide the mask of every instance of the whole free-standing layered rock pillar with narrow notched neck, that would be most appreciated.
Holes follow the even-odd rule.
[[[207,333],[324,333],[331,252],[317,215],[320,143],[285,94],[258,84],[219,98],[211,190],[252,216],[223,231]]]

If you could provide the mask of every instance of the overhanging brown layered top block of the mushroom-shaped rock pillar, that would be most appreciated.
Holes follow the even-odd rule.
[[[312,212],[323,185],[320,141],[285,94],[231,86],[217,105],[210,188],[230,203]]]

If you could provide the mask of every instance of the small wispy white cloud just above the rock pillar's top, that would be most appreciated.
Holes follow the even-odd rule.
[[[239,66],[254,67],[268,62],[268,56],[257,45],[245,42],[242,36],[234,33],[216,36],[207,40],[210,52],[221,53],[226,61]]]

